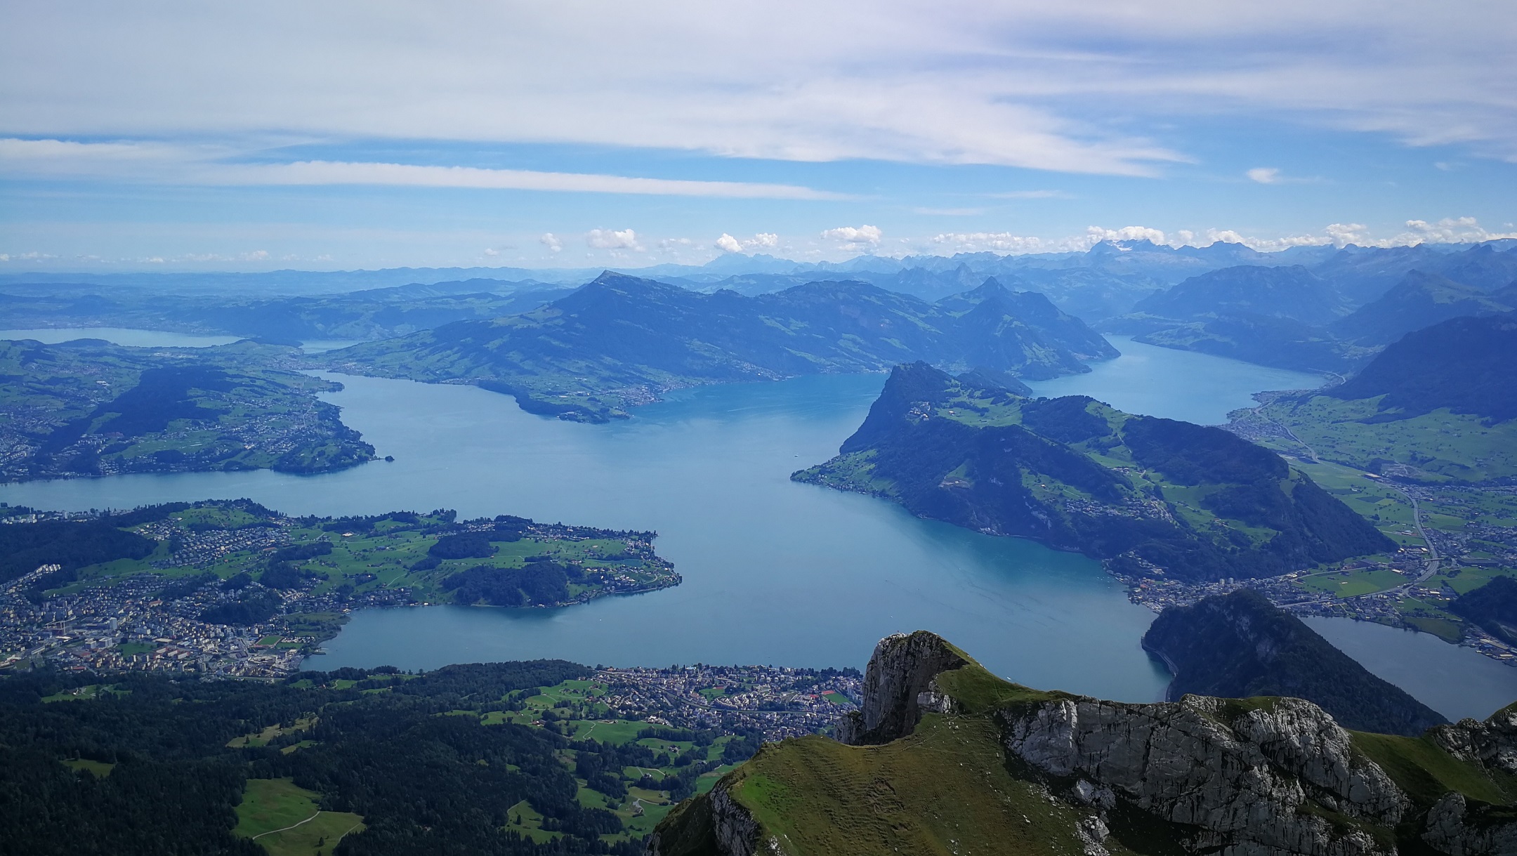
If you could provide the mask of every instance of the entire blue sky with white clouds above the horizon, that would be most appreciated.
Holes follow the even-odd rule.
[[[0,272],[1517,232],[1511,3],[434,6],[5,5]]]

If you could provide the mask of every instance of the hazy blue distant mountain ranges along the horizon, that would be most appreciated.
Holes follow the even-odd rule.
[[[1426,317],[1429,305],[1438,307],[1438,317],[1418,326],[1456,314],[1502,311],[1517,301],[1517,291],[1506,288],[1517,282],[1517,240],[1399,247],[1309,246],[1274,253],[1229,243],[1170,247],[1150,241],[1103,241],[1086,252],[862,255],[845,263],[815,264],[731,253],[704,266],[660,264],[613,270],[695,291],[725,288],[745,296],[815,281],[848,279],[928,302],[969,291],[995,278],[1015,291],[1047,294],[1059,310],[1101,332],[1138,334],[1154,345],[1317,370],[1362,364],[1374,349],[1411,329],[1403,329],[1408,323]],[[150,319],[132,317],[133,301],[167,293],[179,301],[150,326],[162,328],[167,322],[185,331],[361,340],[451,320],[528,311],[601,272],[601,267],[400,267],[267,273],[14,273],[0,275],[0,293],[5,294],[0,299],[11,326],[91,326],[108,317],[112,323],[144,323]],[[1268,291],[1259,291],[1258,287],[1265,284]],[[1456,291],[1462,287],[1462,293],[1449,293],[1449,284]],[[455,305],[461,296],[473,294],[492,297],[476,299],[470,307]],[[322,308],[290,301],[314,297],[341,304],[338,314],[343,317],[353,314],[352,302],[379,308],[407,304],[408,311],[431,304],[437,311],[410,322],[360,325],[346,334],[334,329],[346,323],[341,320],[325,322],[326,328],[323,322],[314,328],[279,328],[278,317],[282,314]],[[1377,304],[1382,299],[1390,299],[1390,304]],[[1264,343],[1264,348],[1250,348],[1241,340]]]

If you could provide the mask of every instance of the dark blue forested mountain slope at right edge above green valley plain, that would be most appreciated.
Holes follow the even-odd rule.
[[[1380,398],[1405,414],[1449,408],[1496,422],[1517,417],[1517,314],[1459,317],[1406,334],[1326,395]]]

